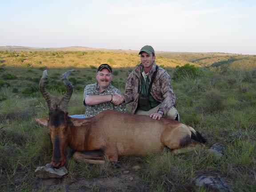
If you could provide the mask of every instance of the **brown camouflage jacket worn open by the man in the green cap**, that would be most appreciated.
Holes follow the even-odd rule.
[[[140,63],[128,76],[125,85],[125,104],[133,101],[131,113],[136,112],[138,106],[138,99],[141,89],[141,70],[143,66]],[[153,63],[151,70],[148,73],[148,78],[150,84],[153,73],[156,70],[156,62]],[[158,67],[155,80],[152,84],[150,90],[151,95],[158,101],[162,103],[160,110],[166,114],[169,109],[175,104],[176,96],[171,87],[171,77],[169,74],[161,67]]]

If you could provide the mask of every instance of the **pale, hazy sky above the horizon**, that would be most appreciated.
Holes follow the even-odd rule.
[[[256,55],[256,0],[0,0],[0,46]]]

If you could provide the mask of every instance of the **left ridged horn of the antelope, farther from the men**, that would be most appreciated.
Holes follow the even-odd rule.
[[[42,93],[42,95],[44,96],[44,98],[48,104],[48,108],[51,109],[51,108],[53,108],[53,103],[52,103],[53,96],[46,90],[45,86],[46,86],[47,80],[48,80],[47,71],[44,70],[41,80],[39,82],[39,90]]]

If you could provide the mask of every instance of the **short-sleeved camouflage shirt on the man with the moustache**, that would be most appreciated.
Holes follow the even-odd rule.
[[[84,98],[86,96],[92,96],[92,95],[111,95],[114,93],[122,94],[117,88],[112,86],[111,84],[106,88],[103,92],[100,92],[98,84],[88,84],[84,88]],[[84,100],[83,100],[84,102]],[[111,102],[105,102],[97,105],[92,105],[92,106],[86,106],[86,111],[85,111],[85,117],[92,117],[97,115],[99,112],[102,112],[104,110],[116,110],[120,112],[126,112],[125,110],[125,105],[114,105]]]

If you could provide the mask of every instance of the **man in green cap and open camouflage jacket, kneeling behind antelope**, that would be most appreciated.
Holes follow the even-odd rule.
[[[179,113],[174,107],[176,96],[171,87],[171,77],[163,68],[156,65],[154,49],[146,45],[141,48],[139,54],[141,63],[130,73],[126,81],[123,96],[125,104],[133,101],[132,114],[149,115],[153,119],[168,117],[180,120]],[[149,93],[149,100],[152,101],[153,106],[150,104],[148,108],[141,107],[140,96],[148,94],[149,85],[155,72]],[[144,87],[146,87],[146,91]]]

